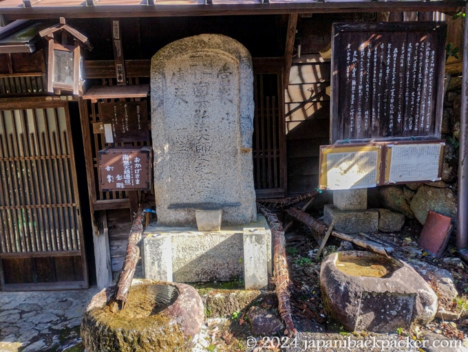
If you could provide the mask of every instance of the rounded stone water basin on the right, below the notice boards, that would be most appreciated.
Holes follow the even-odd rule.
[[[371,252],[330,254],[321,264],[320,286],[328,314],[350,331],[427,325],[437,311],[436,294],[412,267]]]

